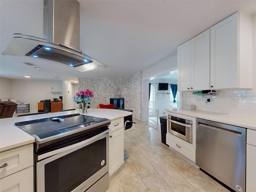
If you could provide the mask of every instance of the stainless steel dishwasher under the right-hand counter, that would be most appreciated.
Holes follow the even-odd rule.
[[[196,165],[234,191],[246,190],[246,129],[196,119]]]

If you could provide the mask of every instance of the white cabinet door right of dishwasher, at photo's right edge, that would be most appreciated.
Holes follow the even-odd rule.
[[[256,146],[246,145],[246,191],[256,191]]]

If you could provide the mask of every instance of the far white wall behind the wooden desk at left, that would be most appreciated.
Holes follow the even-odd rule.
[[[52,87],[54,88],[54,90],[62,91],[62,80],[12,79],[11,84],[5,86],[4,91],[11,92],[11,99],[15,99],[24,103],[29,103],[30,112],[37,112],[38,102],[40,102],[40,100],[52,100],[53,98],[59,98],[59,96],[62,96],[62,94],[60,93],[51,93]]]

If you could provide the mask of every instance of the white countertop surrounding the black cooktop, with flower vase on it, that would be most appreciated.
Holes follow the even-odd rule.
[[[82,110],[72,110],[66,112],[55,112],[0,119],[0,152],[35,142],[34,137],[14,126],[16,122],[56,117],[74,113],[82,114]],[[131,114],[132,112],[124,110],[90,108],[88,109],[88,113],[86,115],[114,120]]]

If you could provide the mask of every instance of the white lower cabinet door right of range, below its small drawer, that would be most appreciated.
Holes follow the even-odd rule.
[[[109,176],[124,163],[124,128],[109,134]]]

